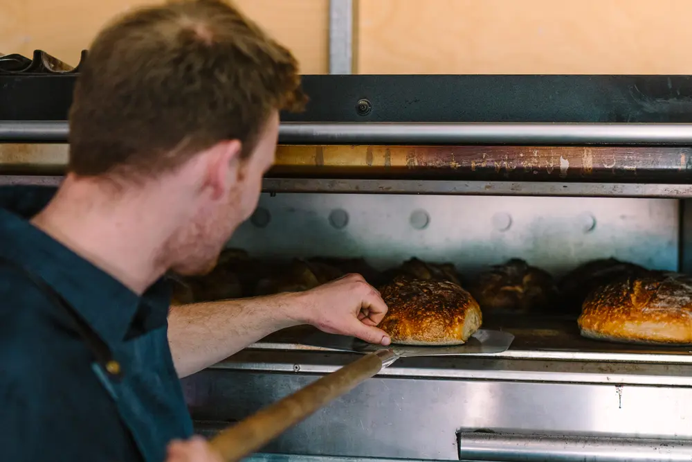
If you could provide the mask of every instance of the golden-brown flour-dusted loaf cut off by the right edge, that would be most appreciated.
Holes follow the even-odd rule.
[[[584,301],[581,335],[644,344],[692,344],[692,278],[650,273],[612,281]]]

